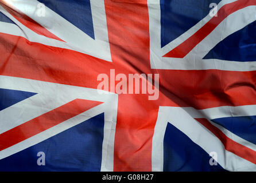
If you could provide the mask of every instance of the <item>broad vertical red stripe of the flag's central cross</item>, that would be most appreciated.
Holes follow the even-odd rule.
[[[116,72],[151,73],[146,0],[104,1]],[[151,171],[152,136],[158,106],[146,95],[118,97],[114,171]]]

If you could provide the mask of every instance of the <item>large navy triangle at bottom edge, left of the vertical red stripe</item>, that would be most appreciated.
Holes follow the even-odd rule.
[[[104,113],[0,160],[0,171],[100,171]],[[37,165],[37,153],[45,165]]]

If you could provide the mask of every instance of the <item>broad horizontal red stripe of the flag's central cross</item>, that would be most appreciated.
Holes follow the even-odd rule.
[[[110,41],[113,37],[110,35]],[[140,49],[145,52],[146,46],[140,46]],[[149,58],[131,54],[126,45],[113,44],[111,50],[114,61],[107,62],[0,33],[0,74],[96,89],[98,74],[109,75],[110,69],[115,69],[116,74],[149,73]],[[160,100],[157,104],[161,106],[205,109],[256,104],[256,71],[157,70],[157,73],[160,74]]]

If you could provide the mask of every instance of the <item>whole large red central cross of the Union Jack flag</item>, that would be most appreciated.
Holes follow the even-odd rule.
[[[249,87],[255,86],[255,71],[151,69],[147,0],[105,0],[105,10],[113,62],[1,33],[0,74],[95,89],[98,74],[110,74],[110,69],[116,74],[160,74],[158,100],[149,101],[148,94],[118,96],[114,171],[152,170],[159,106],[255,104],[255,90]],[[246,85],[232,87],[239,83]]]

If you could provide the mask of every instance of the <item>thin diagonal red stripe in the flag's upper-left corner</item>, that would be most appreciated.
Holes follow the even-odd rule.
[[[5,5],[5,2],[0,0],[1,5],[5,8],[14,18],[16,18],[19,22],[23,25],[28,27],[29,29],[33,30],[35,33],[39,35],[44,35],[45,37],[57,39],[59,41],[63,41],[62,39],[58,38],[56,35],[52,34],[50,31],[45,29],[45,27],[41,26],[39,23],[34,21],[32,18],[28,17],[28,15],[22,13],[15,7],[9,7]]]

